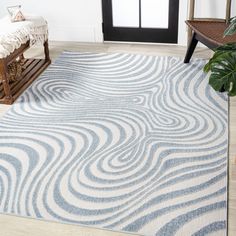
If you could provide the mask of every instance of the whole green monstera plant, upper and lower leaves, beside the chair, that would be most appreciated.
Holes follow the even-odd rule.
[[[235,33],[236,16],[230,20],[224,36]],[[216,48],[204,71],[211,72],[209,84],[216,91],[228,92],[229,96],[236,96],[236,42]]]

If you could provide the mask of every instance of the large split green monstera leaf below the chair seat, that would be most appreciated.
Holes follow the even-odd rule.
[[[211,71],[209,84],[216,91],[224,88],[229,96],[236,96],[236,52],[216,56],[208,67]]]

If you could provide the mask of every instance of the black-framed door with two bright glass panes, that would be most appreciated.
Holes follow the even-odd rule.
[[[102,0],[105,41],[177,43],[179,0]]]

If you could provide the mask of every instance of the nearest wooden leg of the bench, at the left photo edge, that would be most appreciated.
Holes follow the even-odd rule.
[[[3,85],[3,90],[4,90],[4,101],[6,104],[12,104],[14,99],[11,95],[11,90],[10,90],[10,86],[9,86],[9,81],[7,78],[7,65],[4,61],[4,59],[0,59],[0,74],[1,74],[1,78],[2,78],[2,85]]]

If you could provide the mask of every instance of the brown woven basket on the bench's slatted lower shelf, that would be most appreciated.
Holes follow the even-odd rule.
[[[14,82],[20,79],[22,75],[21,61],[13,61],[7,66],[7,79],[9,82]],[[2,76],[0,75],[0,83],[2,82]]]

